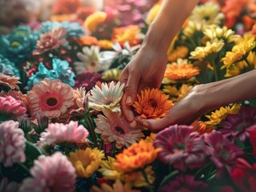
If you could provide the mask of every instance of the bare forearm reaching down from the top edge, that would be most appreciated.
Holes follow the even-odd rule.
[[[154,46],[166,53],[199,0],[164,0],[161,10],[148,28],[144,46]]]

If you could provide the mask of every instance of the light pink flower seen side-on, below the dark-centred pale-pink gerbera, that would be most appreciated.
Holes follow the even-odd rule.
[[[59,142],[85,142],[89,132],[84,126],[79,125],[78,122],[51,123],[48,128],[41,134],[40,141],[43,144],[51,145]]]

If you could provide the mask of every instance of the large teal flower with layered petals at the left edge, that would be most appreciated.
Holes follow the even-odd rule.
[[[27,26],[19,26],[12,33],[0,37],[0,54],[19,66],[35,50],[38,38],[37,32]]]

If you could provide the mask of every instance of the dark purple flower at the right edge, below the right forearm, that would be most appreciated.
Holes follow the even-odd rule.
[[[238,114],[229,114],[226,117],[226,121],[221,123],[222,129],[220,131],[231,141],[238,138],[245,142],[246,138],[249,137],[247,128],[254,124],[256,124],[256,108],[242,107]]]

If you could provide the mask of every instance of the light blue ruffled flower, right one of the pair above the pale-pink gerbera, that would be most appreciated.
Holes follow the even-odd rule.
[[[52,68],[55,72],[55,78],[62,82],[75,86],[75,73],[71,70],[69,63],[59,58],[52,59]]]

